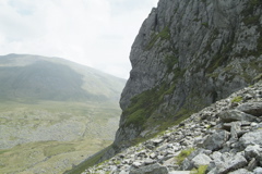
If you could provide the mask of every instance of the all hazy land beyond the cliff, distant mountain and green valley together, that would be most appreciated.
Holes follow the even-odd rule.
[[[124,83],[59,58],[0,57],[0,173],[60,174],[109,146]]]

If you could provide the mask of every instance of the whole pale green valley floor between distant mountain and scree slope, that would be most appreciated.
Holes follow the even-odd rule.
[[[109,146],[112,142],[120,115],[120,109],[109,103],[81,103],[38,101],[35,104],[25,102],[1,102],[0,104],[0,142],[4,139],[16,145],[11,149],[0,150],[0,173],[24,172],[34,173],[39,170],[62,173],[82,162],[91,154]],[[62,129],[67,122],[67,134]],[[3,125],[10,128],[3,128]],[[35,140],[37,129],[58,127],[61,139],[66,141]],[[70,126],[74,125],[74,126]],[[85,126],[83,126],[85,125]],[[82,127],[82,128],[79,128]],[[81,134],[73,132],[79,129]],[[20,134],[22,130],[28,134]],[[41,129],[40,129],[41,130]],[[53,129],[50,129],[51,136]],[[40,134],[40,133],[39,133]],[[9,136],[9,138],[7,138]],[[24,137],[28,136],[28,137]],[[59,136],[59,135],[58,135]],[[95,138],[98,137],[98,138]],[[45,137],[44,137],[45,138]],[[48,138],[48,136],[47,136]]]

